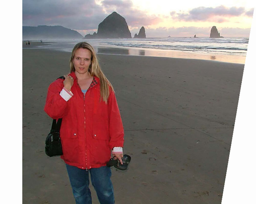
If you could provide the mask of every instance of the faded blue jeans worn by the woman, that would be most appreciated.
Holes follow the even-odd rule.
[[[110,180],[110,167],[92,168],[89,171],[79,169],[66,164],[69,180],[72,186],[73,195],[76,204],[91,204],[92,197],[89,189],[89,171],[91,175],[92,185],[97,193],[101,204],[113,204],[114,191]]]

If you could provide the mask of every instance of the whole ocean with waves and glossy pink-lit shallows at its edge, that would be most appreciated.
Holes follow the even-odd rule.
[[[72,52],[78,42],[90,43],[97,53],[195,58],[244,63],[249,38],[244,37],[159,37],[146,39],[43,40],[38,48]]]

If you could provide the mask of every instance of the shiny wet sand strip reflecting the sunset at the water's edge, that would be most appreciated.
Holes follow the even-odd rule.
[[[59,50],[63,52],[72,52],[72,48],[40,48],[44,45],[54,45],[55,42],[33,42],[31,45],[26,45],[23,41],[23,49],[50,49]],[[91,42],[89,42],[91,43]],[[74,43],[75,44],[75,43]],[[110,46],[110,45],[100,45],[96,46],[93,43],[91,45],[94,47],[97,54],[112,54],[112,55],[131,55],[131,56],[148,56],[148,57],[167,57],[167,58],[180,58],[180,59],[201,59],[209,61],[245,64],[246,56],[237,55],[219,55],[219,54],[203,54],[203,53],[193,53],[190,51],[182,50],[169,50],[169,49],[151,49],[151,48],[138,48],[138,47],[123,47],[123,46]]]

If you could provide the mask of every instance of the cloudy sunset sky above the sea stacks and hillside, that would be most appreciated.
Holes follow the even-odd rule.
[[[116,11],[132,36],[145,27],[147,37],[208,37],[216,26],[224,37],[249,37],[251,0],[23,0],[23,26],[62,25],[82,35]]]

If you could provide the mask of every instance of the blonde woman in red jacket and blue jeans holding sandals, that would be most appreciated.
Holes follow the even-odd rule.
[[[122,163],[124,130],[113,86],[103,74],[94,49],[86,42],[74,46],[70,74],[48,88],[45,112],[62,118],[60,138],[76,203],[92,203],[91,182],[100,203],[114,203],[112,154]]]

